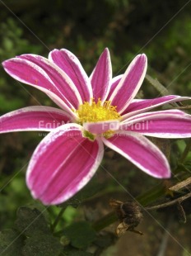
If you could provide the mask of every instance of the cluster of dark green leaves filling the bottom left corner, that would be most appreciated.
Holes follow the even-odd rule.
[[[0,253],[7,256],[57,256],[63,250],[59,239],[49,230],[46,209],[21,206],[14,230],[0,233]],[[47,213],[46,213],[47,214]]]

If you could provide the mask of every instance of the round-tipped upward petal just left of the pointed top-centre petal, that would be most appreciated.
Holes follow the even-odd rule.
[[[60,69],[63,69],[68,74],[68,77],[72,79],[82,97],[82,102],[90,102],[93,97],[90,79],[87,77],[77,57],[69,50],[55,49],[49,53],[49,59]]]

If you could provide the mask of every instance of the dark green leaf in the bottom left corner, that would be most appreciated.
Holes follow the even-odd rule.
[[[23,245],[23,237],[16,230],[2,230],[0,232],[1,256],[21,256]]]

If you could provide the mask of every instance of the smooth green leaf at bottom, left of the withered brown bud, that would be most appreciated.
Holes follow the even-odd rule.
[[[95,240],[95,230],[86,221],[72,223],[63,230],[63,235],[70,239],[73,247],[86,249]]]

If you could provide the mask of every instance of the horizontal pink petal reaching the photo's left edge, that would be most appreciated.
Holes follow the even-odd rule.
[[[71,116],[54,107],[24,107],[0,117],[0,133],[22,130],[54,130],[71,121]]]

